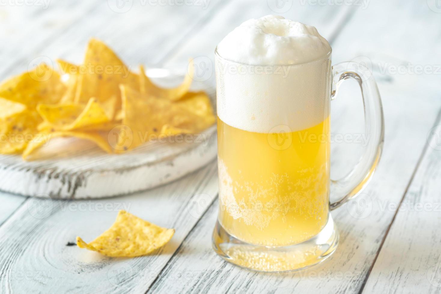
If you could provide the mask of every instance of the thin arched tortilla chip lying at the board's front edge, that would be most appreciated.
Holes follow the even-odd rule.
[[[32,140],[26,146],[26,149],[22,153],[22,158],[25,160],[29,159],[30,154],[42,147],[45,143],[48,143],[49,140],[57,137],[76,137],[78,139],[90,140],[107,153],[112,153],[112,148],[107,141],[107,136],[101,135],[99,132],[63,131],[41,133],[40,136],[36,137],[35,140]]]

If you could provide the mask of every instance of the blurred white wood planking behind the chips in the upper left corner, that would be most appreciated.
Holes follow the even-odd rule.
[[[112,0],[51,0],[46,9],[2,6],[2,25],[8,29],[2,32],[7,42],[0,54],[3,62],[0,78],[21,73],[39,56],[52,60],[54,65],[57,58],[80,63],[91,37],[104,40],[133,70],[138,64],[147,68],[158,65],[161,56],[173,51],[178,40],[217,13],[219,6],[228,3],[219,0],[207,1],[208,5],[126,2],[133,5],[124,13],[109,7]],[[191,56],[186,60],[188,57]]]

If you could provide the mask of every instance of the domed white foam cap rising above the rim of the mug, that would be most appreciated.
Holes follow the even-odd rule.
[[[314,26],[267,15],[250,19],[217,46],[225,59],[250,65],[292,65],[327,55],[331,47]]]

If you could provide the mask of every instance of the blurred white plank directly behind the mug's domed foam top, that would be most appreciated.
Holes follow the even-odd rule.
[[[275,1],[269,0],[268,3]],[[298,1],[286,1],[287,5],[292,5],[287,11],[278,13],[285,18],[295,19],[306,24],[313,24],[321,35],[331,39],[334,33],[341,26],[348,15],[355,10],[355,7],[330,7],[301,5]],[[198,29],[194,29],[189,38],[169,52],[169,58],[164,62],[166,67],[185,66],[188,56],[198,61],[214,61],[214,48],[225,37],[227,33],[239,26],[242,22],[250,18],[259,18],[264,15],[276,14],[271,10],[267,3],[256,3],[256,1],[242,0],[231,1],[218,8],[217,14]],[[210,71],[204,77],[210,77],[214,81],[213,64],[208,67]]]

